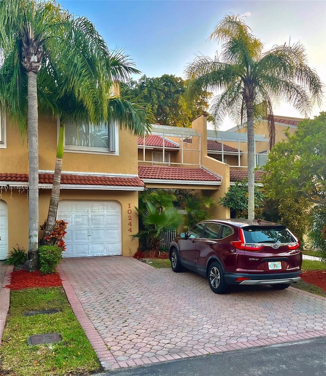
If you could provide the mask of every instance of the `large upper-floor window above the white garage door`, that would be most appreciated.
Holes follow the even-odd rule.
[[[115,127],[107,124],[92,125],[67,123],[65,148],[99,152],[115,151]]]

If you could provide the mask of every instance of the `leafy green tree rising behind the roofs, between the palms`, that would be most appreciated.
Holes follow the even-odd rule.
[[[174,75],[153,78],[143,75],[138,81],[131,79],[122,84],[121,95],[146,103],[146,109],[152,111],[159,124],[190,127],[193,120],[207,112],[212,94],[197,88],[193,97],[188,99],[186,86],[186,81]]]

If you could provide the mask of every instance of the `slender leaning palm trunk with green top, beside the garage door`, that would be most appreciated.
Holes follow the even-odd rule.
[[[56,226],[59,197],[60,197],[60,182],[61,182],[62,160],[63,160],[63,149],[64,149],[64,130],[65,130],[65,124],[63,121],[60,121],[56,168],[55,168],[55,174],[53,175],[53,185],[52,185],[52,190],[51,190],[49,211],[47,214],[46,225],[45,225],[45,229],[43,232],[42,243],[45,243],[45,237],[50,235],[51,231],[54,230]]]

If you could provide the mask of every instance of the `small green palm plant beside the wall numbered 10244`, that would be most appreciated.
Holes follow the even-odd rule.
[[[146,248],[159,252],[160,236],[163,231],[177,230],[183,222],[183,212],[176,207],[157,208],[151,202],[146,202],[146,210],[142,221],[144,230],[131,236],[139,239]]]

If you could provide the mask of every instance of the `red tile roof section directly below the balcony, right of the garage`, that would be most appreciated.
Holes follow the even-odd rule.
[[[216,176],[201,168],[182,168],[168,166],[138,166],[138,175],[141,179],[160,180],[193,180],[193,181],[221,181]]]

